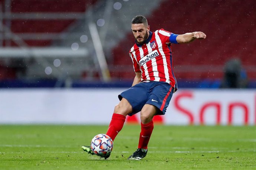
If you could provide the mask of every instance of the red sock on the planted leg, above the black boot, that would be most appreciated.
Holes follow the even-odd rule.
[[[139,140],[138,148],[148,149],[148,142],[150,140],[150,136],[153,132],[153,129],[154,129],[153,121],[151,121],[147,124],[141,123],[141,133],[140,133],[140,140]]]

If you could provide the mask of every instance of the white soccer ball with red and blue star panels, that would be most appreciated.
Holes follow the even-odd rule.
[[[113,149],[113,140],[105,134],[99,134],[93,137],[91,142],[92,152],[100,157],[111,153]]]

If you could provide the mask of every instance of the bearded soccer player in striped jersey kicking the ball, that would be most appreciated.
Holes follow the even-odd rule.
[[[164,29],[150,31],[144,16],[135,16],[131,21],[135,44],[129,51],[133,62],[135,78],[132,87],[118,95],[120,102],[115,106],[106,135],[115,140],[121,131],[127,115],[140,112],[141,132],[138,149],[128,160],[140,160],[147,155],[148,142],[152,134],[155,115],[164,115],[167,106],[177,90],[173,72],[171,44],[190,43],[205,39],[203,32],[174,34]],[[92,153],[90,146],[82,146]],[[110,156],[106,155],[105,159]]]

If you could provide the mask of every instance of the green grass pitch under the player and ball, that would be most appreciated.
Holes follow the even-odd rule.
[[[0,169],[256,169],[256,126],[155,125],[147,156],[127,160],[139,125],[125,125],[108,160],[83,152],[107,126],[0,125]]]

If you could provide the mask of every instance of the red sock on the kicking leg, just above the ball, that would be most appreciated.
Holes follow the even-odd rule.
[[[122,130],[125,118],[126,117],[124,115],[113,113],[111,122],[109,123],[108,132],[106,133],[106,135],[111,137],[113,141],[118,132]]]

